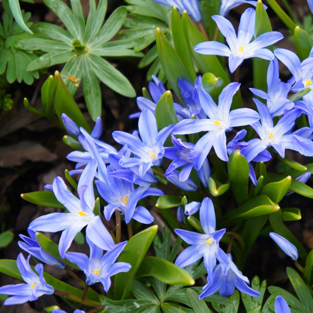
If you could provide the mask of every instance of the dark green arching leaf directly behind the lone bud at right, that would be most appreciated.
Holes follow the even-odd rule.
[[[288,239],[292,244],[294,244],[298,250],[300,258],[305,260],[307,257],[307,252],[305,251],[302,244],[300,244],[298,239],[294,236],[294,234],[291,233],[289,228],[286,227],[285,224],[283,223],[281,210],[278,210],[277,212],[270,214],[269,222],[274,232]]]

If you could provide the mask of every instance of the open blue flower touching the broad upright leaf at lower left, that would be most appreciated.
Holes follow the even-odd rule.
[[[117,262],[116,259],[121,254],[127,241],[116,244],[109,252],[103,255],[103,249],[92,243],[86,236],[87,243],[90,248],[89,258],[86,254],[69,252],[66,258],[77,264],[86,275],[86,284],[93,285],[100,282],[105,292],[108,292],[111,286],[110,277],[121,272],[128,272],[131,264],[125,262]]]

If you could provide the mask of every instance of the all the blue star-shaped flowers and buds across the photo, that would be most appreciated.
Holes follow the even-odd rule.
[[[195,21],[201,20],[201,12],[197,0],[155,0],[158,3],[177,6],[180,12],[187,10]],[[21,235],[23,241],[19,246],[38,260],[64,268],[65,264],[47,254],[36,241],[36,232],[62,231],[59,240],[59,253],[64,259],[77,264],[86,275],[88,285],[100,282],[105,291],[110,288],[110,277],[127,272],[131,265],[115,262],[121,254],[126,242],[115,244],[110,233],[102,223],[100,216],[95,215],[95,192],[105,200],[107,205],[103,213],[110,220],[116,211],[121,212],[128,224],[134,219],[143,224],[153,222],[149,210],[138,205],[141,199],[149,196],[162,196],[164,193],[153,187],[158,182],[152,167],[169,164],[164,177],[172,184],[186,191],[197,191],[198,185],[190,177],[194,168],[204,187],[208,187],[210,167],[208,154],[212,147],[216,156],[222,161],[228,161],[228,155],[239,150],[249,162],[250,178],[257,183],[254,167],[251,162],[270,160],[275,153],[285,156],[285,149],[298,151],[305,156],[313,156],[313,91],[310,91],[301,101],[290,101],[288,94],[298,92],[313,86],[313,49],[309,58],[300,62],[291,51],[276,49],[271,52],[265,47],[283,38],[278,32],[269,32],[253,38],[255,11],[248,8],[242,15],[238,35],[231,23],[224,18],[228,11],[241,4],[256,4],[256,1],[222,1],[220,15],[213,16],[220,32],[226,38],[227,45],[215,41],[198,44],[194,49],[201,54],[213,54],[228,57],[230,72],[234,72],[244,59],[259,57],[270,60],[267,75],[267,92],[251,88],[251,92],[266,100],[266,105],[258,99],[253,99],[257,110],[239,108],[231,110],[234,95],[240,88],[238,82],[228,84],[218,97],[218,104],[205,90],[202,78],[199,76],[194,84],[180,78],[178,86],[184,105],[175,103],[174,109],[179,122],[158,130],[155,109],[162,94],[166,91],[162,82],[153,77],[149,83],[151,99],[137,98],[139,113],[131,118],[139,117],[138,131],[132,134],[115,131],[112,136],[122,145],[117,151],[113,146],[102,142],[101,119],[98,118],[91,134],[79,128],[67,115],[62,119],[67,131],[76,136],[84,151],[73,151],[67,158],[76,162],[76,168],[71,175],[80,175],[77,193],[78,198],[69,191],[61,177],[54,179],[53,185],[46,189],[55,197],[68,213],[51,213],[36,218],[28,228],[30,238]],[[252,41],[251,41],[252,40]],[[282,82],[279,78],[278,59],[289,69],[292,78]],[[295,128],[295,121],[301,115],[308,117],[310,127]],[[277,118],[280,117],[280,118]],[[255,138],[243,141],[247,135],[244,129],[237,127],[251,126]],[[195,144],[183,142],[175,135],[189,135],[204,132]],[[165,141],[171,136],[173,146],[165,147]],[[256,138],[259,136],[259,138]],[[269,147],[274,148],[272,154]],[[168,159],[169,161],[165,161]],[[299,180],[306,181],[308,175]],[[95,187],[94,187],[95,183]],[[225,253],[219,247],[219,241],[226,229],[216,230],[213,203],[204,198],[202,203],[188,203],[184,208],[186,215],[199,211],[200,222],[204,233],[195,233],[182,229],[175,232],[190,246],[177,258],[175,264],[186,267],[203,257],[204,266],[208,272],[208,283],[199,295],[202,299],[219,290],[220,295],[232,295],[235,287],[251,296],[259,293],[247,284],[245,277],[233,262],[232,255]],[[120,214],[118,212],[118,214]],[[182,208],[178,210],[178,218],[184,218]],[[90,256],[67,252],[75,235],[86,226],[86,240],[90,247]],[[294,246],[275,233],[271,237],[292,257],[298,254]],[[103,255],[103,251],[107,251]],[[43,278],[43,265],[37,264],[36,275],[30,268],[28,259],[19,254],[17,265],[26,284],[9,285],[0,288],[0,294],[13,295],[5,301],[5,305],[18,304],[36,300],[43,294],[52,294],[53,288],[46,284]],[[219,262],[218,265],[217,261]],[[288,305],[281,297],[275,301],[276,312],[288,312]],[[53,312],[64,312],[54,310]],[[75,312],[83,312],[76,310]]]

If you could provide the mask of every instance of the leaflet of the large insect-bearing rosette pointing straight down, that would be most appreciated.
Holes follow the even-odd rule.
[[[90,64],[87,59],[83,60],[83,91],[86,106],[90,117],[96,121],[101,116],[101,91],[100,85],[93,70],[90,70]]]

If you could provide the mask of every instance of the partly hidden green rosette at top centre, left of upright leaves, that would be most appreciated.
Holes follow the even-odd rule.
[[[125,0],[130,13],[130,18],[126,18],[125,26],[120,34],[123,39],[134,41],[134,51],[139,52],[147,48],[156,40],[156,28],[160,28],[167,39],[172,42],[171,17],[172,8],[161,5],[153,0]],[[151,75],[157,75],[165,81],[165,74],[162,69],[156,44],[141,59],[139,68],[151,65],[147,73],[147,80],[151,80]]]

